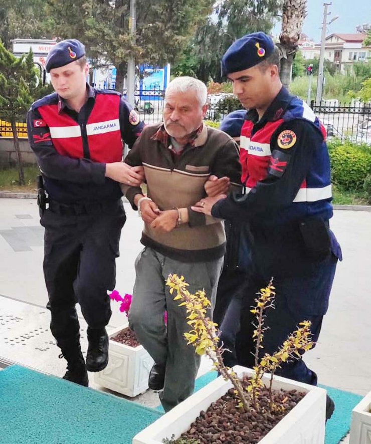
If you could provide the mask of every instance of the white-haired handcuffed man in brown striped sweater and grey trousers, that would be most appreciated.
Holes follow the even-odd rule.
[[[122,186],[144,221],[129,325],[155,361],[148,383],[163,389],[165,411],[192,394],[200,366],[200,356],[183,337],[190,329],[186,310],[173,301],[165,280],[170,273],[184,276],[189,290],[204,288],[214,306],[224,226],[191,206],[206,196],[211,175],[229,177],[231,189],[241,184],[238,146],[203,123],[207,108],[207,88],[200,80],[174,79],[166,89],[163,122],[145,127],[125,158],[130,166],[144,167],[147,183],[147,196],[139,186]]]

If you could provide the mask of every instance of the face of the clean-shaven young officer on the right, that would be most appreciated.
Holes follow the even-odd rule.
[[[267,67],[263,71],[258,66],[228,74],[228,78],[233,93],[246,109],[266,107],[271,101],[272,84],[277,79],[274,69]]]

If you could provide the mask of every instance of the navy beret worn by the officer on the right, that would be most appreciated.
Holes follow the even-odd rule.
[[[232,43],[223,56],[222,76],[249,69],[263,62],[273,50],[273,40],[262,32],[241,37]]]

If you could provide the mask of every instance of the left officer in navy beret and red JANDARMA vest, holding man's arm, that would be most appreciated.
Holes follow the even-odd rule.
[[[108,363],[107,290],[115,287],[126,220],[120,182],[143,181],[141,167],[122,162],[122,140],[131,147],[143,123],[121,94],[86,83],[89,66],[78,40],[57,43],[46,70],[55,92],[33,103],[27,129],[42,172],[39,188],[45,188],[49,201],[46,208],[40,199],[47,307],[51,331],[67,360],[64,378],[87,386],[87,371]],[[86,362],[76,302],[88,324]]]

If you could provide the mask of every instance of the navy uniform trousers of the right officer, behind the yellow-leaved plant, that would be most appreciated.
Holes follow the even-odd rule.
[[[328,306],[337,260],[338,258],[331,253],[325,260],[318,262],[310,274],[274,278],[275,308],[268,308],[265,311],[264,325],[269,329],[264,332],[264,348],[260,356],[277,351],[288,335],[297,330],[299,323],[303,320],[311,321],[311,338],[312,341],[317,341],[322,318]],[[256,324],[256,319],[250,310],[256,305],[254,300],[258,296],[257,292],[268,285],[270,278],[254,271],[250,274],[246,287],[242,291],[240,330],[236,338],[237,362],[232,362],[232,364],[238,363],[250,368],[254,366],[255,348],[252,336],[255,327],[252,322]],[[237,307],[235,315],[238,309]],[[316,385],[317,383],[317,375],[301,358],[283,363],[276,374],[307,384]]]

